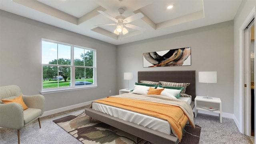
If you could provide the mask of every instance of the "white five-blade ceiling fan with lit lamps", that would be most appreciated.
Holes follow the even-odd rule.
[[[122,32],[122,34],[127,34],[128,30],[125,28],[132,28],[135,30],[140,30],[143,31],[144,28],[141,28],[139,26],[135,26],[133,24],[128,24],[130,22],[133,22],[134,20],[137,20],[139,18],[142,18],[144,15],[142,13],[137,13],[134,14],[132,16],[129,16],[128,18],[122,16],[122,14],[124,13],[124,9],[123,8],[119,8],[118,12],[120,14],[120,16],[116,16],[115,18],[110,16],[109,14],[107,14],[106,12],[103,12],[101,10],[98,10],[98,12],[108,18],[110,18],[111,20],[113,20],[114,22],[116,22],[115,24],[101,24],[100,26],[112,26],[112,25],[116,25],[116,29],[114,30],[115,34],[120,34]]]

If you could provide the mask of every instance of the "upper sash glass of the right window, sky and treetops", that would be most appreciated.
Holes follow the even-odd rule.
[[[75,66],[93,66],[93,50],[74,48]]]

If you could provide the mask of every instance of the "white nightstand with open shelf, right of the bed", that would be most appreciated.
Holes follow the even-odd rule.
[[[197,116],[198,110],[204,110],[204,111],[214,112],[214,113],[219,114],[220,123],[222,123],[222,109],[221,109],[220,98],[211,97],[212,99],[206,99],[203,97],[205,97],[205,96],[196,96],[196,98],[195,98],[195,118]],[[207,106],[209,108],[216,108],[218,110],[208,110],[206,108],[202,108],[203,106]]]

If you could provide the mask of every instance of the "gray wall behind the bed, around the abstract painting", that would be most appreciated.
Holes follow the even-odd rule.
[[[137,82],[138,71],[196,70],[196,94],[206,95],[206,84],[198,82],[198,71],[217,71],[217,83],[208,84],[208,95],[222,100],[222,112],[233,114],[234,106],[234,26],[223,22],[119,45],[117,49],[118,89],[127,88],[123,72],[133,72],[130,83]],[[191,66],[143,68],[142,54],[191,46]],[[132,84],[130,87],[132,87]]]

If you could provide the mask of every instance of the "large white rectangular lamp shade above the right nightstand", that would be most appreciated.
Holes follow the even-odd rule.
[[[198,82],[217,83],[217,72],[198,72]]]

